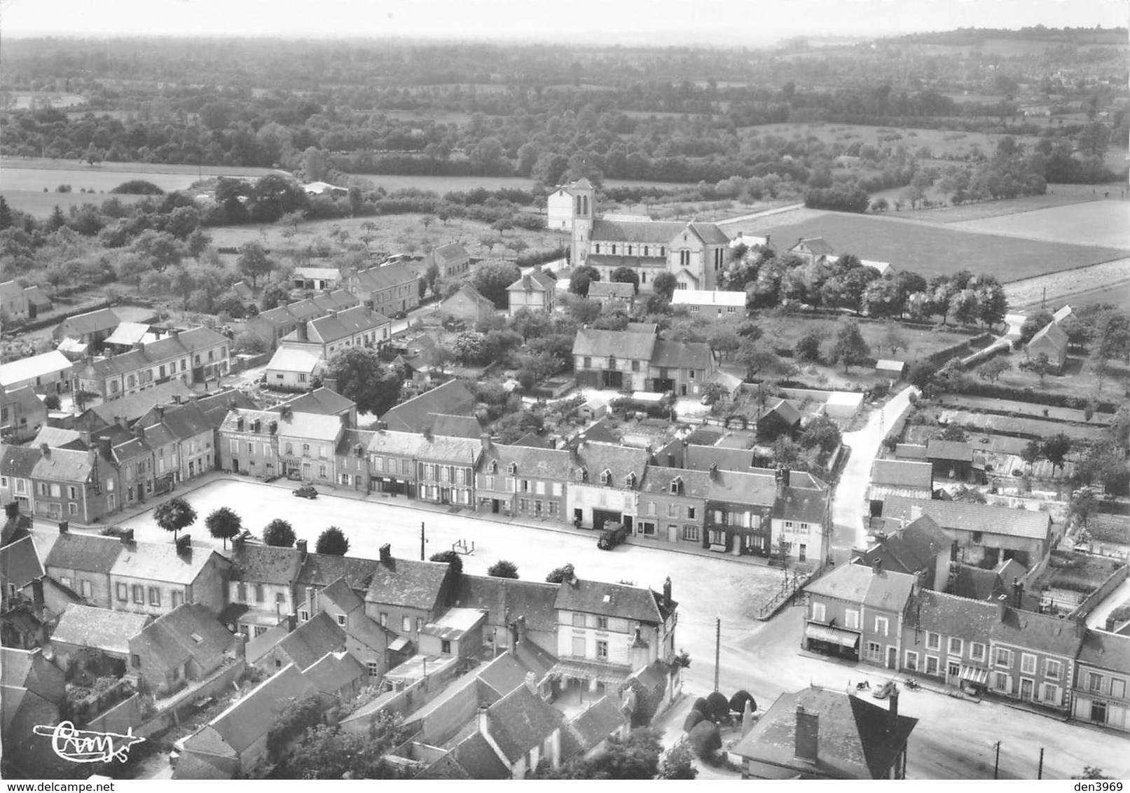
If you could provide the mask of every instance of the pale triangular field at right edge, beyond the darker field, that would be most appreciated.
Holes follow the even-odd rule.
[[[949,228],[1026,239],[1130,249],[1130,201],[1090,201],[996,218],[964,220]]]

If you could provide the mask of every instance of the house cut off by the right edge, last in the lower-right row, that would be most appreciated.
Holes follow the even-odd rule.
[[[1071,717],[1130,731],[1130,636],[1088,629],[1076,660]]]

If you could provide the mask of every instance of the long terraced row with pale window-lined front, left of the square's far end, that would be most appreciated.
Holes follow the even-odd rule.
[[[76,364],[73,389],[113,400],[169,380],[189,385],[218,381],[231,371],[228,346],[227,337],[208,328],[172,330],[129,352]]]

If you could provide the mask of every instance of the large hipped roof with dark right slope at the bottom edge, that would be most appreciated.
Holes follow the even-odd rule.
[[[819,714],[816,764],[796,758],[798,707]],[[889,774],[915,724],[843,691],[806,688],[777,697],[731,751],[779,778],[876,779]]]

